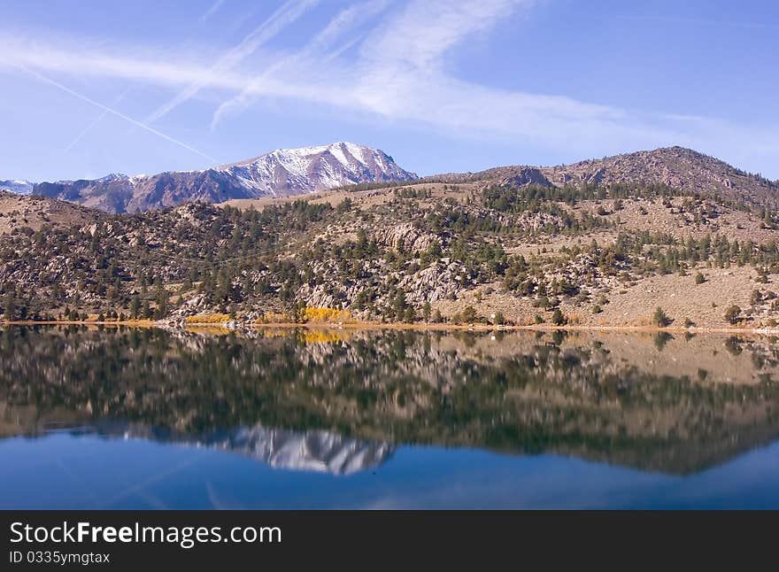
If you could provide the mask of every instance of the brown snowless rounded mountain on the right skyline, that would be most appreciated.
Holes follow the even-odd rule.
[[[443,174],[422,182],[489,182],[562,188],[615,183],[667,185],[690,195],[721,197],[751,205],[779,205],[779,182],[746,173],[718,158],[683,147],[663,147],[560,166],[501,166],[479,173]]]

